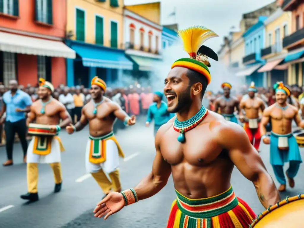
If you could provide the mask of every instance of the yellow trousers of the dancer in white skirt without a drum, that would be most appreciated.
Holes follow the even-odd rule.
[[[102,189],[103,193],[108,194],[112,189],[115,192],[121,191],[121,185],[119,180],[119,171],[116,169],[112,173],[109,173],[109,177],[112,183],[109,181],[104,171],[100,169],[97,173],[91,173],[97,184]]]

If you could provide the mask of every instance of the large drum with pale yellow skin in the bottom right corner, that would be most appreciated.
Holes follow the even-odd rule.
[[[286,197],[257,216],[250,228],[304,227],[304,194]]]

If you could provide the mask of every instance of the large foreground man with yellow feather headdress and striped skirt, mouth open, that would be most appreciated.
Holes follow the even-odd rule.
[[[95,208],[95,216],[107,219],[124,206],[157,194],[172,174],[177,199],[167,228],[248,228],[255,215],[233,192],[234,166],[253,182],[265,208],[280,201],[280,196],[244,130],[202,106],[211,79],[207,55],[218,58],[206,46],[188,47],[187,43],[200,44],[203,40],[195,39],[216,34],[198,26],[181,30],[179,35],[191,58],[175,61],[165,79],[168,111],[177,117],[156,134],[152,171],[135,188],[107,195]]]

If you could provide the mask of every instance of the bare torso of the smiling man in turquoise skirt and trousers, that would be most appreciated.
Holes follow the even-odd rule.
[[[269,106],[269,116],[271,118],[272,131],[277,134],[288,134],[292,132],[292,120],[298,113],[298,109],[290,104],[288,108],[282,110],[275,104]]]

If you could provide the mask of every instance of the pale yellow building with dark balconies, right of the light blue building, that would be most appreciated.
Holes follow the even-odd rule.
[[[261,58],[266,64],[258,72],[267,72],[267,86],[277,81],[288,83],[288,66],[283,64],[287,51],[283,49],[282,40],[291,33],[291,13],[278,8],[265,21],[265,48],[261,50]]]

